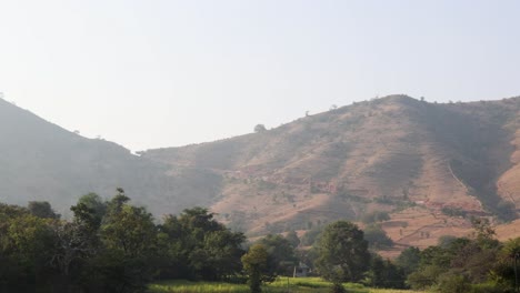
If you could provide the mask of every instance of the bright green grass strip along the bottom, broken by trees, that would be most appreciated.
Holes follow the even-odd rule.
[[[266,293],[282,292],[328,292],[330,283],[320,277],[279,277],[276,282],[264,285],[262,291]],[[360,284],[344,284],[348,292],[352,293],[419,293],[419,291],[390,290],[390,289],[370,289]],[[249,287],[246,284],[210,283],[210,282],[189,282],[189,281],[169,281],[153,283],[149,286],[150,293],[248,293]]]

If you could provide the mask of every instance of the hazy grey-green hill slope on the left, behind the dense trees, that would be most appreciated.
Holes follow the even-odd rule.
[[[193,175],[188,170],[172,178],[166,164],[112,142],[82,138],[1,99],[0,138],[1,202],[49,201],[68,214],[80,195],[96,192],[108,198],[121,186],[157,214],[177,213],[181,206],[204,204],[198,195],[211,194],[197,180],[214,181],[212,174]]]

